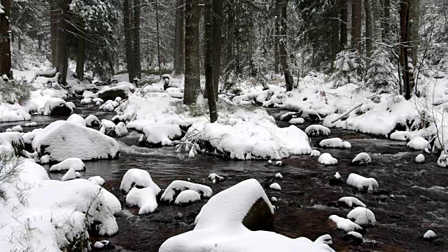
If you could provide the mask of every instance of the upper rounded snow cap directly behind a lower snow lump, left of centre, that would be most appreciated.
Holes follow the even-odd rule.
[[[160,193],[160,188],[153,182],[149,172],[143,169],[132,168],[127,170],[123,179],[121,180],[120,190],[128,193],[132,187],[141,186],[144,188],[151,188],[155,195]]]

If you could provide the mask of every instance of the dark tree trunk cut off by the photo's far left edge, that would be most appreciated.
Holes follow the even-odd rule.
[[[11,50],[9,38],[10,0],[1,0],[3,11],[0,12],[0,77],[6,74],[13,78],[11,71]],[[1,10],[1,9],[0,9]]]

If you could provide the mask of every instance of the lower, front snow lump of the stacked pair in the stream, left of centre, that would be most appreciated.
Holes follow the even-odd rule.
[[[157,193],[158,194],[158,193]],[[157,209],[157,195],[152,188],[132,188],[126,195],[126,204],[129,207],[139,207],[139,214],[151,214]]]

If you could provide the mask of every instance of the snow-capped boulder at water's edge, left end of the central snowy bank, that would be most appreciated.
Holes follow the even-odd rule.
[[[139,144],[148,147],[170,146],[172,141],[181,139],[182,130],[179,125],[151,125],[144,127]]]

